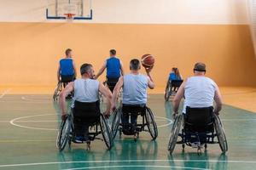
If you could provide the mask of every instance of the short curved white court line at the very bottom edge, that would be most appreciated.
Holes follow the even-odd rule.
[[[176,166],[163,166],[163,165],[114,165],[114,166],[99,166],[99,167],[75,167],[62,170],[79,170],[79,169],[94,169],[94,168],[106,168],[106,167],[162,167],[162,168],[177,168],[177,169],[198,169],[198,170],[211,170],[201,167],[176,167]]]

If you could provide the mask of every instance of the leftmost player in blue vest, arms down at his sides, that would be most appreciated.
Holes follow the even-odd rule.
[[[60,65],[57,72],[58,82],[63,82],[64,88],[67,82],[73,82],[77,73],[74,61],[72,59],[72,49],[67,48],[66,58],[60,60]]]

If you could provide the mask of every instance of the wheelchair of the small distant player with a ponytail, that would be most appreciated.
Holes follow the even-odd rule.
[[[171,95],[174,95],[177,93],[178,88],[183,83],[183,80],[172,80],[168,81],[166,85],[166,93],[165,93],[165,99],[166,101],[169,100]]]

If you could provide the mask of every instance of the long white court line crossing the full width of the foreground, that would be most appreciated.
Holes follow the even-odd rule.
[[[256,161],[221,161],[221,160],[115,160],[115,161],[49,161],[49,162],[36,162],[36,163],[20,163],[20,164],[5,164],[0,167],[25,167],[25,166],[38,166],[38,165],[55,165],[55,164],[71,164],[71,163],[109,163],[109,162],[227,162],[227,163],[256,163]]]

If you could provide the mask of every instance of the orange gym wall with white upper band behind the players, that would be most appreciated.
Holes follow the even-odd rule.
[[[173,66],[183,77],[195,62],[220,86],[256,86],[256,60],[241,0],[93,0],[91,21],[45,20],[44,0],[3,1],[0,11],[0,85],[55,85],[58,60],[73,49],[98,71],[115,48],[129,61],[155,56],[153,77],[164,89]],[[102,76],[102,80],[104,76]]]

